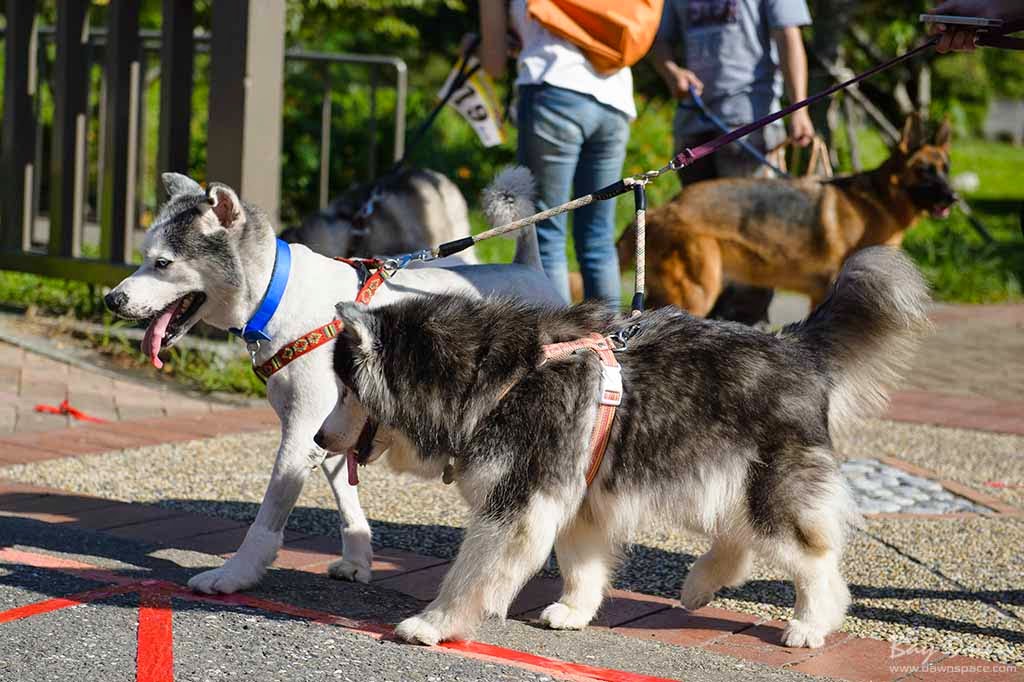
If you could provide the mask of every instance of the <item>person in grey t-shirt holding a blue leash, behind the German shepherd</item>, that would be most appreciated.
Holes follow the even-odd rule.
[[[675,152],[721,134],[690,101],[690,88],[729,128],[780,109],[783,89],[791,101],[805,98],[807,52],[800,27],[810,23],[806,0],[666,0],[650,56],[669,91],[679,99],[673,127]],[[797,144],[806,146],[812,141],[814,126],[806,109],[793,114],[788,125]],[[746,140],[764,153],[784,138],[785,130],[776,123]],[[749,176],[759,168],[758,160],[738,144],[730,144],[684,168],[680,180],[685,184]],[[766,321],[771,298],[771,290],[729,285],[709,316],[748,324]]]

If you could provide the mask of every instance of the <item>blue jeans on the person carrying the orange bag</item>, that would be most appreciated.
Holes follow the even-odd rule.
[[[550,85],[519,87],[518,160],[537,179],[538,209],[545,210],[622,178],[630,121],[593,97]],[[537,225],[541,262],[555,289],[569,300],[565,236],[568,214]],[[585,298],[616,308],[622,293],[615,252],[615,201],[575,211],[572,239]]]

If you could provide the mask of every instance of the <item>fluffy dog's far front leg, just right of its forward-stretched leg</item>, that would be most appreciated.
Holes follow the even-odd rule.
[[[541,623],[555,630],[582,630],[604,599],[615,543],[606,527],[580,513],[558,540],[555,553],[565,587],[562,596],[541,612]]]

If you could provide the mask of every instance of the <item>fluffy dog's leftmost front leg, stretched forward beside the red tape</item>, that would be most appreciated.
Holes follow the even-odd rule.
[[[500,513],[480,514],[470,522],[437,598],[419,615],[399,623],[394,631],[398,637],[432,645],[471,636],[488,614],[505,616],[551,553],[566,505],[535,494],[525,508],[506,506]]]

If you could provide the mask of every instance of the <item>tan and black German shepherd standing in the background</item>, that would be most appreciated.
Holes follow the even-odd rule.
[[[730,178],[686,187],[647,213],[647,295],[707,315],[723,282],[788,289],[820,303],[843,261],[869,246],[899,246],[925,213],[949,214],[948,123],[926,140],[911,116],[871,171],[834,179]],[[635,262],[635,225],[618,241]]]

